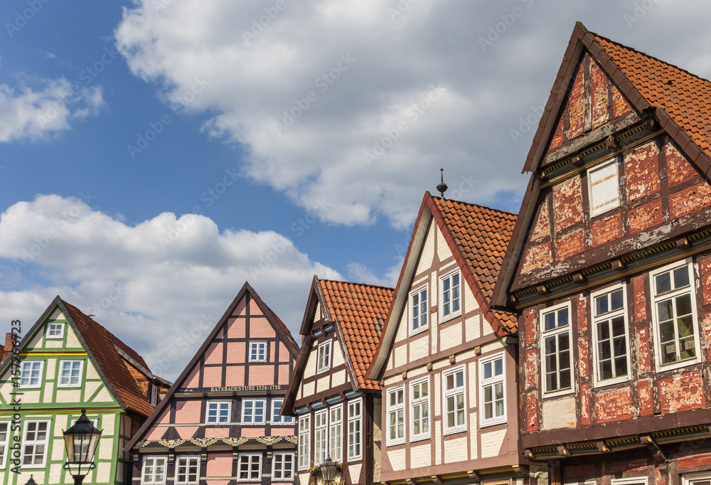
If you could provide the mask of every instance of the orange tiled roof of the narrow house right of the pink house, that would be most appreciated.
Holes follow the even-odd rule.
[[[365,375],[378,348],[393,289],[330,279],[320,281],[331,318],[341,324],[358,385],[365,389],[380,389],[378,381],[367,379]]]

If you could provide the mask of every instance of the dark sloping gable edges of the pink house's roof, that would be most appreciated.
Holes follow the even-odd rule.
[[[275,319],[276,314],[272,310],[267,307],[266,304],[262,301],[260,298],[259,294],[255,291],[254,288],[249,284],[249,282],[245,282],[245,284],[242,286],[242,289],[240,289],[240,292],[237,293],[237,296],[235,299],[232,300],[232,303],[230,303],[228,309],[225,310],[225,313],[223,314],[222,318],[218,321],[217,324],[213,327],[213,329],[210,331],[210,334],[205,338],[205,341],[203,341],[203,344],[198,348],[198,351],[195,353],[193,358],[191,358],[190,362],[188,365],[183,368],[183,372],[181,372],[181,375],[178,376],[176,379],[175,383],[171,386],[171,388],[168,390],[168,393],[166,393],[165,397],[161,400],[160,403],[156,406],[155,410],[151,413],[151,415],[148,417],[148,419],[141,425],[139,430],[136,432],[136,434],[129,440],[128,444],[124,447],[124,452],[128,452],[132,449],[134,444],[136,444],[139,439],[143,437],[143,435],[146,433],[146,431],[153,425],[154,421],[156,420],[156,417],[158,417],[161,413],[161,411],[166,407],[167,403],[169,402],[170,398],[173,396],[173,394],[176,393],[176,390],[180,387],[180,385],[183,383],[183,381],[188,377],[188,373],[193,369],[194,366],[200,361],[200,357],[207,351],[208,346],[210,343],[213,341],[215,338],[215,335],[220,331],[220,328],[225,324],[227,319],[230,317],[232,314],[232,311],[235,310],[235,307],[237,307],[237,304],[242,301],[242,299],[245,297],[245,294],[247,292],[250,293],[250,296],[252,296],[252,299],[255,300],[257,303],[257,306],[260,307],[262,312],[264,313],[264,316],[267,317],[267,321],[269,321],[269,324],[274,327],[274,330],[277,332],[277,334],[282,338],[282,342],[284,343],[285,346],[287,346],[287,349],[289,350],[290,353],[292,353],[293,356],[296,356],[299,352],[299,347],[296,346],[296,341],[294,341],[294,338],[292,335],[289,333],[289,329],[287,329],[286,326],[282,323],[281,320],[278,318]],[[284,335],[284,331],[287,332],[286,335]]]

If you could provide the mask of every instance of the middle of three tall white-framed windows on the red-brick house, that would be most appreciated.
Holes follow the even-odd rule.
[[[629,378],[629,345],[624,286],[592,294],[595,382],[606,385]]]

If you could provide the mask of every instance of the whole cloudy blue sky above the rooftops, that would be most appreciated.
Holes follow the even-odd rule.
[[[395,284],[440,167],[449,196],[518,212],[574,21],[708,77],[709,14],[664,0],[4,1],[0,307],[29,326],[60,294],[156,364],[249,279],[297,334],[315,273]]]

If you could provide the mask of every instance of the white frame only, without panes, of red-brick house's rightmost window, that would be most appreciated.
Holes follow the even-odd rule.
[[[669,292],[666,292],[664,294],[659,295],[657,297],[656,295],[656,277],[658,275],[661,275],[662,273],[669,272],[676,270],[680,267],[686,267],[688,272],[689,272],[689,286],[684,287],[683,289],[673,289]],[[694,264],[692,258],[688,257],[685,260],[680,260],[677,262],[673,262],[670,265],[666,265],[664,267],[658,268],[654,271],[649,272],[649,287],[651,289],[651,300],[652,300],[652,335],[654,338],[654,350],[655,350],[655,358],[654,358],[654,365],[656,368],[657,372],[661,371],[671,371],[673,369],[678,369],[678,368],[683,368],[683,367],[688,367],[688,366],[693,366],[695,363],[699,363],[701,361],[701,332],[699,331],[699,318],[697,314],[697,309],[696,309],[696,277],[695,277],[695,269],[694,269]],[[676,363],[670,363],[670,364],[662,364],[662,352],[661,352],[661,342],[660,342],[660,331],[659,331],[659,316],[657,314],[657,303],[671,299],[674,297],[678,297],[682,294],[689,293],[691,297],[691,314],[693,318],[693,326],[694,326],[694,346],[695,346],[695,351],[696,351],[696,358],[690,358],[685,361],[678,361]],[[675,340],[676,342],[676,340]]]

